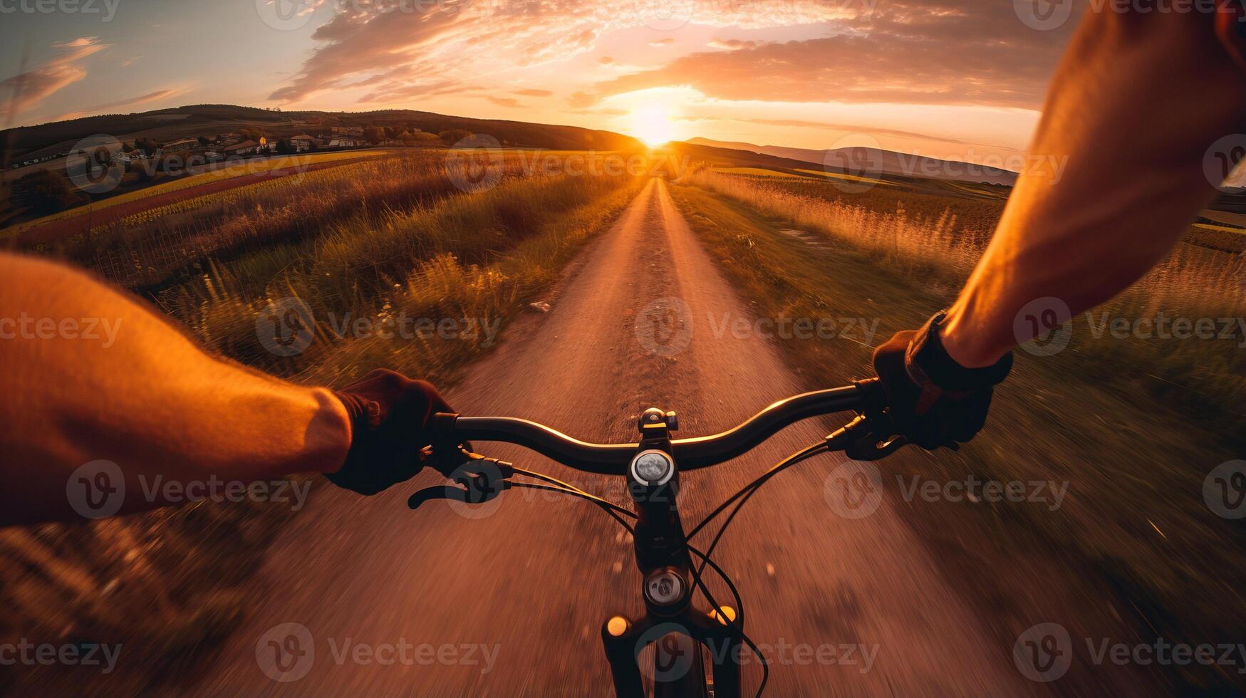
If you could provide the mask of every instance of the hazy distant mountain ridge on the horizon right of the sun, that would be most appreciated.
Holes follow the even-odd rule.
[[[816,151],[810,148],[789,148],[785,146],[756,146],[733,141],[713,141],[699,137],[689,138],[685,142],[694,146],[755,152],[771,157],[809,162],[817,165],[820,168],[846,172],[902,174],[906,177],[927,177],[956,182],[987,182],[989,184],[1008,186],[1012,186],[1017,181],[1017,173],[1008,170],[885,151],[881,148],[851,147]]]

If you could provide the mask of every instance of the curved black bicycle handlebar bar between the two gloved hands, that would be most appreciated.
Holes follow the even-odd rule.
[[[871,381],[802,393],[773,403],[734,429],[711,436],[672,441],[680,470],[697,470],[731,460],[758,446],[785,426],[811,416],[856,410],[866,401]],[[589,444],[526,419],[445,416],[456,440],[506,441],[531,449],[568,467],[598,475],[623,475],[639,444]],[[451,421],[452,420],[452,421]]]

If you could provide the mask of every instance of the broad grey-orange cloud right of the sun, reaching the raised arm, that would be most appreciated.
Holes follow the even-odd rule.
[[[680,85],[724,100],[1038,108],[1075,24],[1040,32],[1011,2],[893,0],[836,36],[689,54],[601,82],[596,96]]]

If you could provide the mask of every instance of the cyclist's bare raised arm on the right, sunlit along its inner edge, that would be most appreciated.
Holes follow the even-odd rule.
[[[991,365],[1030,338],[1013,323],[1032,300],[1057,297],[1077,315],[1124,290],[1215,196],[1209,146],[1242,131],[1246,75],[1211,15],[1088,11],[1030,147],[1054,160],[1018,179],[943,320],[947,353]]]

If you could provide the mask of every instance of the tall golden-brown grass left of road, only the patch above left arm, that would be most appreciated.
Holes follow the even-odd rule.
[[[248,254],[164,293],[162,300],[212,350],[278,375],[299,375],[343,343],[338,330],[346,319],[371,322],[401,312],[409,318],[501,317],[551,279],[551,267],[521,246],[548,248],[582,239],[586,233],[577,231],[617,214],[634,193],[634,182],[628,176],[535,176],[411,211],[363,213],[300,246]],[[554,232],[542,236],[547,229]],[[566,259],[558,249],[545,253],[548,264]],[[278,272],[270,275],[273,269]],[[451,284],[450,278],[459,282]],[[444,303],[432,304],[421,288],[439,288]],[[316,323],[312,347],[283,358],[264,348],[255,318],[287,298],[304,303]],[[452,353],[468,355],[466,344]],[[416,345],[394,349],[421,354]]]

